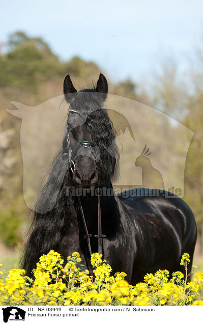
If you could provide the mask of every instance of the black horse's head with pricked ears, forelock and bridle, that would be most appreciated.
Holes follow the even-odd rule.
[[[69,156],[74,183],[80,188],[94,187],[97,182],[115,175],[115,156],[119,156],[119,151],[113,144],[115,154],[112,154],[115,130],[104,109],[107,92],[108,84],[103,74],[100,74],[96,88],[79,92],[69,75],[64,79],[64,95],[70,107],[63,149]]]

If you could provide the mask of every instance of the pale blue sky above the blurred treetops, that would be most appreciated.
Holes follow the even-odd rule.
[[[203,36],[201,0],[0,1],[0,44],[24,31],[61,60],[94,61],[117,82],[135,82],[174,58],[187,68]]]

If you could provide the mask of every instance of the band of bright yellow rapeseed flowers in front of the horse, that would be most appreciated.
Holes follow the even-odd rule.
[[[0,280],[2,305],[203,305],[203,273],[194,275],[187,284],[181,272],[167,270],[144,276],[136,286],[124,280],[125,273],[110,276],[111,267],[102,255],[92,255],[94,277],[88,270],[81,271],[79,253],[67,258],[63,267],[59,253],[51,250],[42,255],[34,269],[34,280],[22,269],[11,269],[5,283]],[[182,262],[187,266],[189,255]]]

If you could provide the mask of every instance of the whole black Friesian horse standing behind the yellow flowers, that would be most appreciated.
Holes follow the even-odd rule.
[[[107,92],[102,74],[96,88],[79,92],[69,75],[64,80],[64,94],[70,103],[67,132],[36,205],[22,264],[27,275],[51,249],[64,259],[79,252],[82,263],[92,272],[90,248],[92,253],[98,252],[95,235],[100,208],[100,250],[102,241],[103,257],[114,273],[125,272],[129,283],[142,281],[146,273],[158,269],[168,269],[170,274],[184,272],[182,254],[187,252],[193,258],[196,225],[182,199],[174,195],[166,198],[164,191],[150,196],[146,190],[140,197],[132,195],[132,190],[113,194],[111,180],[118,176],[119,150],[113,124],[103,107]],[[81,197],[74,196],[70,187],[81,188]],[[97,187],[101,192],[93,195]]]

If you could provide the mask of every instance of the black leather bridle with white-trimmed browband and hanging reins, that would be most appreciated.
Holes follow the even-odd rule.
[[[75,114],[80,115],[80,113],[75,109],[70,108],[69,112],[73,112]],[[70,129],[69,129],[69,126],[68,126],[67,123],[66,123],[66,140],[67,140],[67,147],[68,147],[68,160],[69,160],[69,165],[70,165],[70,169],[72,171],[72,174],[74,173],[74,169],[75,169],[74,160],[80,154],[80,152],[81,152],[81,150],[83,148],[89,149],[91,151],[91,153],[93,154],[94,159],[96,161],[99,161],[99,152],[97,150],[97,147],[95,147],[95,145],[90,141],[82,141],[80,143],[77,143],[73,149],[71,148]],[[74,169],[72,168],[72,165],[73,165]],[[98,188],[99,188],[99,183],[98,183]],[[77,198],[78,198],[79,210],[80,210],[81,217],[82,217],[82,222],[83,222],[83,225],[84,225],[84,231],[85,231],[84,238],[86,238],[86,240],[87,240],[88,249],[89,249],[90,256],[91,256],[92,255],[92,249],[91,249],[90,237],[92,237],[92,234],[89,234],[88,228],[86,226],[86,222],[85,222],[85,218],[84,218],[84,213],[83,213],[80,197],[78,196]],[[98,238],[98,252],[99,252],[99,254],[102,254],[102,243],[103,243],[102,238],[106,237],[106,235],[102,234],[101,204],[100,204],[100,196],[99,195],[98,195],[98,234],[96,234],[94,236]]]

